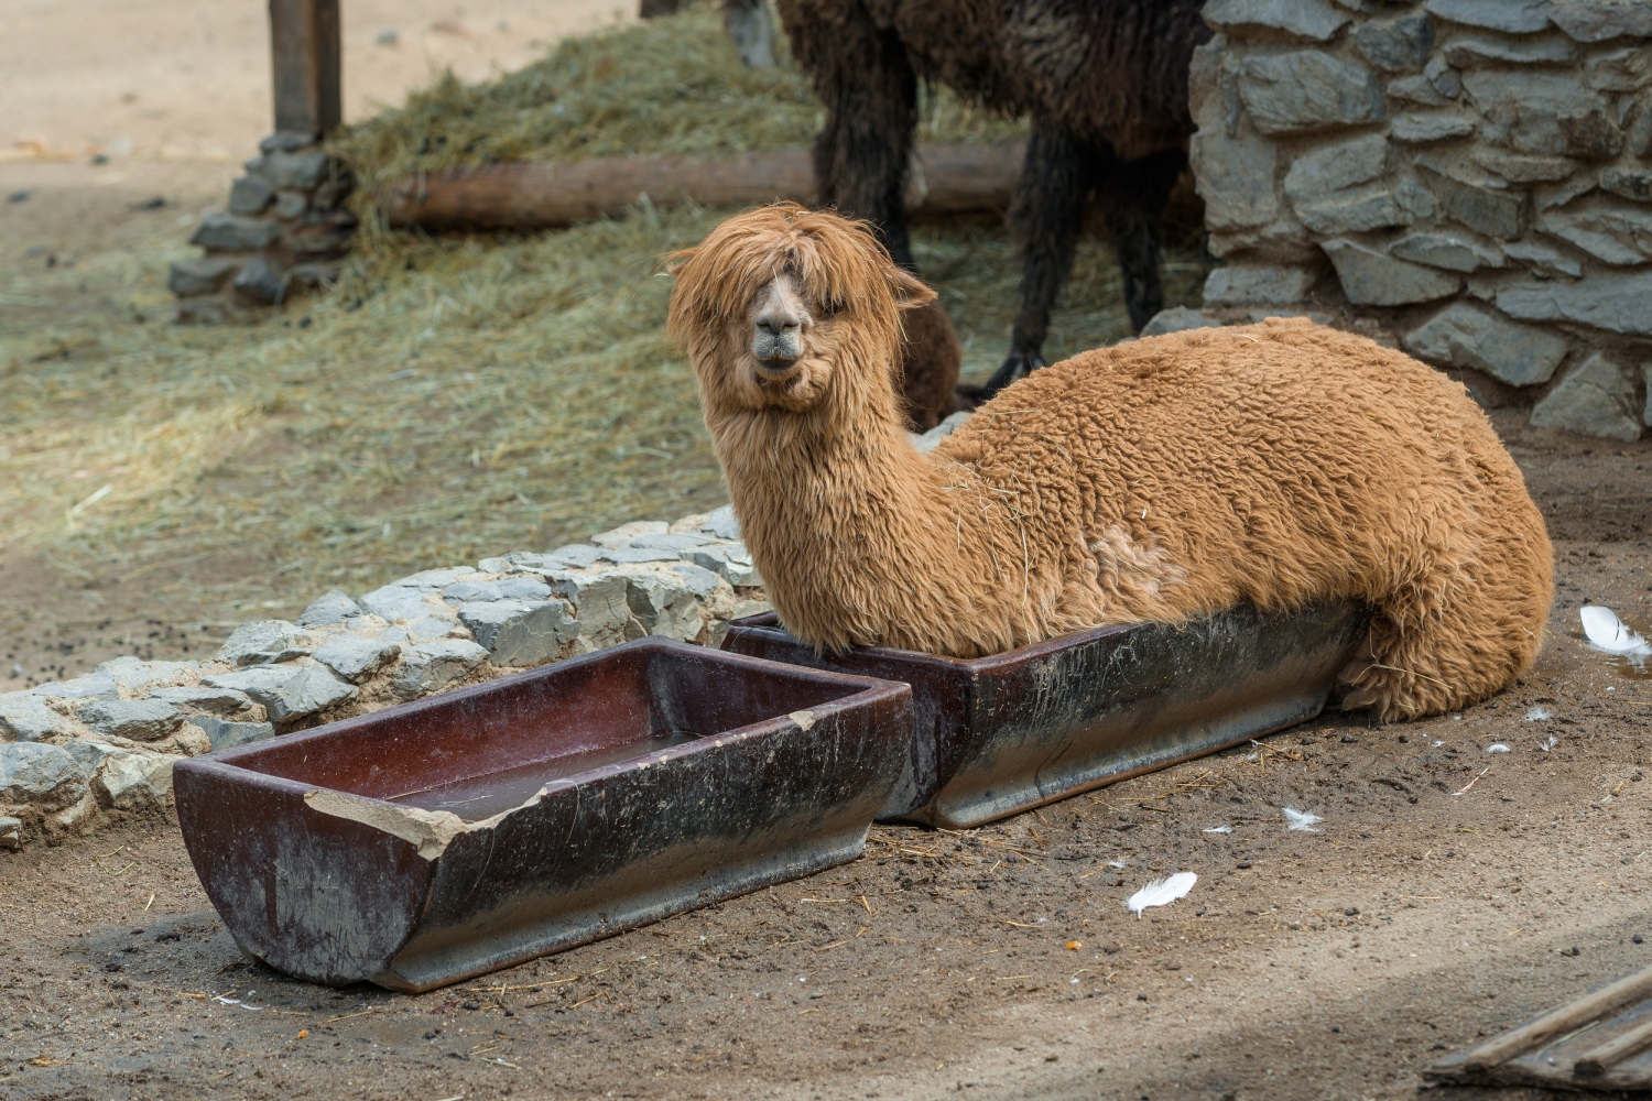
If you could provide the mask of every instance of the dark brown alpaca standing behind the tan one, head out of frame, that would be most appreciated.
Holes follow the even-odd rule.
[[[900,200],[919,78],[1031,116],[1032,139],[1009,210],[1024,262],[1021,309],[1009,357],[985,396],[1042,366],[1049,314],[1072,269],[1092,191],[1118,248],[1130,324],[1140,330],[1160,310],[1153,223],[1186,163],[1188,68],[1194,46],[1209,38],[1199,18],[1204,0],[778,3],[791,51],[828,111],[814,145],[819,201],[871,221],[907,269],[912,246]],[[907,378],[943,375],[947,340],[955,348],[957,337],[940,305],[909,314],[907,325],[910,335],[925,335],[905,350]],[[935,335],[940,327],[947,338]]]

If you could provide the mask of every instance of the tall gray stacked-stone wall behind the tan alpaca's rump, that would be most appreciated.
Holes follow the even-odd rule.
[[[1193,170],[1229,266],[1214,314],[1160,328],[1346,310],[1479,373],[1482,398],[1530,395],[1538,426],[1652,424],[1652,5],[1211,0],[1204,18]]]

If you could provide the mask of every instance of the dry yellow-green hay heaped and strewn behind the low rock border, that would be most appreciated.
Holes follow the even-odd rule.
[[[697,8],[563,41],[494,83],[443,78],[337,147],[375,185],[487,158],[801,145],[818,119],[795,68],[743,68]],[[923,125],[927,140],[1016,130],[940,94]],[[717,503],[657,266],[724,215],[644,206],[537,236],[375,229],[337,292],[230,328],[165,320],[187,229],[73,267],[0,266],[0,302],[23,320],[0,325],[0,553],[244,619]],[[920,226],[914,244],[966,376],[983,376],[1016,304],[1001,226]],[[1196,302],[1204,269],[1175,253],[1168,302]],[[1127,335],[1117,284],[1110,251],[1085,241],[1052,357]]]

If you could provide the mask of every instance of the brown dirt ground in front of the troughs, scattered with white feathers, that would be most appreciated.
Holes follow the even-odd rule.
[[[1576,629],[1584,601],[1652,626],[1652,446],[1498,428],[1559,581],[1498,700],[1328,715],[966,834],[879,827],[846,867],[418,997],[244,964],[175,824],[129,822],[0,857],[0,1093],[1411,1096],[1652,962],[1652,682]],[[1186,900],[1123,910],[1178,868]]]

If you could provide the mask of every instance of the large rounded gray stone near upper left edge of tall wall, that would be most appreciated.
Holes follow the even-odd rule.
[[[1318,50],[1246,58],[1239,97],[1262,134],[1308,134],[1363,122],[1386,112],[1376,74]]]

